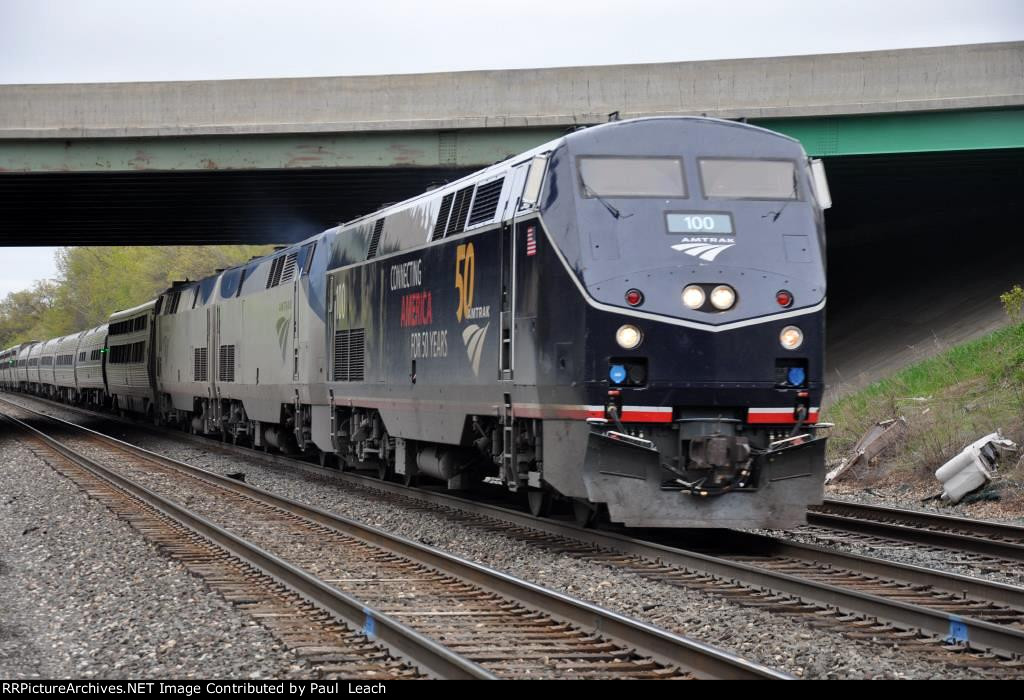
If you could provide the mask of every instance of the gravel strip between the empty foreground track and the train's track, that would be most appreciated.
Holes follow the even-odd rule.
[[[44,410],[86,423],[69,410],[52,406]],[[803,624],[799,618],[743,607],[711,594],[682,590],[602,564],[544,551],[433,512],[383,502],[355,485],[263,466],[258,455],[251,460],[225,455],[177,442],[173,436],[156,438],[128,426],[115,432],[147,449],[220,474],[245,472],[247,483],[440,546],[801,677],[953,679],[984,674],[977,669],[926,661],[891,647],[846,640]]]

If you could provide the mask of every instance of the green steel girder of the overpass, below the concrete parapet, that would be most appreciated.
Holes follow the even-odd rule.
[[[1024,107],[752,120],[811,156],[1024,147]],[[0,139],[0,174],[294,168],[482,167],[561,127],[462,131]]]

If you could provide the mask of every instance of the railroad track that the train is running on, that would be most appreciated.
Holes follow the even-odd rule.
[[[251,450],[208,440],[203,444],[253,455]],[[714,552],[695,552],[692,541],[673,541],[673,533],[648,533],[643,539],[583,530],[446,493],[264,456],[271,464],[358,484],[398,505],[423,510],[428,504],[450,520],[650,580],[801,618],[851,639],[895,644],[907,653],[995,675],[1021,672],[1024,589],[1018,586],[731,531],[716,533],[722,545]]]

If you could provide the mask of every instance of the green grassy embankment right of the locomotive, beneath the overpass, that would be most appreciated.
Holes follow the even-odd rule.
[[[829,457],[847,454],[872,423],[899,415],[908,430],[884,455],[890,469],[930,474],[997,429],[1021,443],[1024,323],[952,347],[828,406],[824,420],[836,424]]]

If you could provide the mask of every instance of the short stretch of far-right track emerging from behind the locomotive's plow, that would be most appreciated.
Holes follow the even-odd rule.
[[[971,552],[993,563],[1011,562],[1018,570],[1024,562],[1024,527],[1017,525],[834,499],[812,507],[807,522],[829,530]]]

